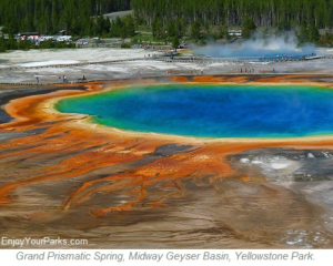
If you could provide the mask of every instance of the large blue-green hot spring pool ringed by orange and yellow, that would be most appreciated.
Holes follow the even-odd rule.
[[[333,133],[333,91],[306,85],[135,86],[64,99],[56,108],[139,132],[202,137]]]

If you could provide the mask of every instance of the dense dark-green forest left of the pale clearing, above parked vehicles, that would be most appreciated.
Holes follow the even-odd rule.
[[[0,25],[8,33],[56,34],[60,30],[73,35],[109,33],[111,25],[102,14],[129,10],[130,3],[131,0],[1,0]]]

